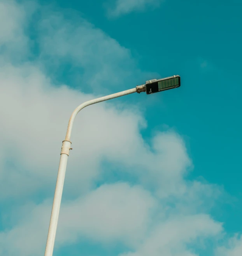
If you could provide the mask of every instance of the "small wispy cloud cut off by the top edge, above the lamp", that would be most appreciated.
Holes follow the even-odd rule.
[[[133,11],[144,11],[147,7],[158,7],[161,0],[116,0],[115,7],[108,9],[111,17],[121,16]]]

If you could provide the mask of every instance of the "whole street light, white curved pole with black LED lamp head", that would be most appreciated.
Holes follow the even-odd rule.
[[[49,223],[49,231],[47,236],[47,242],[46,242],[46,251],[44,256],[52,256],[53,255],[53,249],[54,249],[54,240],[56,237],[56,229],[57,229],[57,223],[58,223],[58,217],[60,212],[60,204],[61,204],[61,196],[63,191],[63,185],[65,180],[65,171],[67,168],[67,159],[71,148],[71,142],[70,142],[70,135],[72,132],[72,126],[74,119],[77,115],[77,113],[92,104],[96,104],[98,102],[102,101],[108,101],[110,99],[114,99],[117,97],[121,97],[124,95],[132,94],[134,92],[140,93],[140,92],[146,92],[146,94],[153,94],[155,92],[161,92],[163,90],[168,90],[172,88],[179,87],[181,85],[180,76],[170,76],[168,78],[163,79],[153,79],[146,81],[145,85],[139,85],[133,89],[126,90],[123,92],[118,92],[116,94],[107,95],[104,97],[100,97],[97,99],[93,99],[91,101],[86,101],[79,105],[72,113],[68,127],[67,127],[67,134],[65,136],[65,140],[62,141],[62,147],[61,147],[61,157],[60,157],[60,164],[58,169],[58,175],[57,175],[57,181],[56,181],[56,189],[54,192],[54,201],[51,211],[51,220]]]

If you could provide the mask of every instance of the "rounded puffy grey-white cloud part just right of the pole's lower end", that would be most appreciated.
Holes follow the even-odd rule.
[[[62,210],[57,239],[68,240],[79,232],[102,242],[132,245],[144,237],[155,206],[154,198],[142,187],[102,185]]]

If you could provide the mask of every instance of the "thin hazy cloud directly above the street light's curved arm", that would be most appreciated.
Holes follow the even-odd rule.
[[[42,13],[39,46],[45,72],[58,73],[61,64],[68,63],[72,83],[98,94],[130,89],[158,76],[141,72],[130,51],[93,24],[68,18],[75,17],[74,12],[67,11],[67,17],[46,9]]]

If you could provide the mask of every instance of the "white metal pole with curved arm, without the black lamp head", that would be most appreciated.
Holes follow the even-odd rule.
[[[63,185],[64,185],[64,180],[65,180],[65,171],[67,168],[67,159],[69,155],[70,149],[70,135],[72,132],[72,126],[74,119],[77,115],[77,113],[92,104],[102,102],[102,101],[107,101],[110,99],[114,99],[117,97],[121,97],[124,95],[132,94],[134,92],[145,92],[146,88],[145,85],[140,85],[137,86],[136,88],[126,90],[123,92],[118,92],[116,94],[110,94],[104,97],[100,97],[97,99],[93,99],[91,101],[86,101],[79,105],[72,113],[69,123],[68,123],[68,128],[67,128],[67,134],[65,137],[65,140],[62,142],[62,147],[61,147],[61,157],[60,157],[60,164],[59,164],[59,170],[58,170],[58,176],[57,176],[57,181],[56,181],[56,189],[54,192],[54,201],[53,201],[53,206],[52,206],[52,211],[51,211],[51,220],[49,223],[49,231],[48,231],[48,236],[47,236],[47,242],[46,242],[46,251],[44,256],[52,256],[53,255],[53,249],[54,249],[54,240],[56,237],[56,229],[57,229],[57,224],[58,224],[58,217],[59,217],[59,212],[60,212],[60,205],[61,205],[61,196],[62,196],[62,191],[63,191]]]

